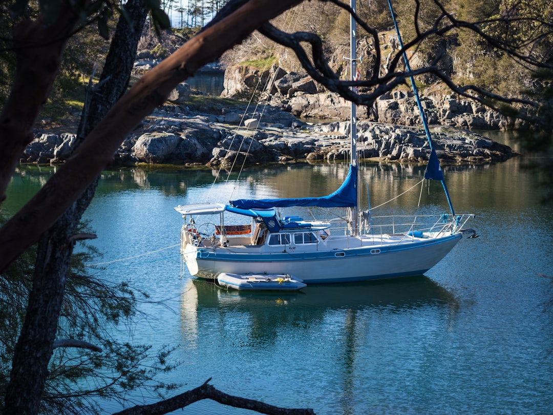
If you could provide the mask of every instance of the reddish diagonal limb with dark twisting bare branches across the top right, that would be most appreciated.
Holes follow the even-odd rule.
[[[346,6],[339,0],[331,1],[347,9],[349,13],[353,13],[349,6]],[[416,38],[406,43],[404,48],[397,52],[392,59],[392,65],[390,65],[390,71],[387,75],[379,75],[380,59],[378,59],[378,54],[380,48],[375,47],[377,59],[375,59],[372,77],[368,80],[341,81],[338,79],[324,59],[320,38],[312,33],[298,32],[287,34],[276,29],[269,23],[265,23],[263,27],[260,28],[260,32],[277,43],[289,46],[295,51],[301,65],[313,79],[326,86],[328,90],[337,92],[342,97],[356,102],[358,105],[372,105],[375,98],[403,84],[406,77],[421,74],[434,74],[442,79],[452,91],[460,96],[471,98],[495,110],[500,110],[505,104],[512,105],[513,103],[536,106],[535,102],[521,98],[503,97],[474,85],[458,86],[447,74],[439,71],[434,66],[413,70],[411,72],[395,70],[404,51],[415,47],[424,39],[432,36],[444,35],[457,28],[472,30],[492,46],[536,68],[551,67],[551,65],[536,61],[531,56],[518,53],[512,46],[492,38],[479,28],[479,24],[457,20],[452,14],[447,13],[438,0],[434,1],[438,7],[440,7],[442,17],[437,20],[431,29],[426,30],[426,32],[420,32],[419,30]],[[28,219],[36,217],[37,215],[39,216],[39,212],[43,209],[51,211],[53,215],[59,215],[60,212],[65,210],[67,207],[65,201],[74,198],[74,194],[78,194],[82,191],[82,183],[91,180],[88,172],[99,172],[99,169],[111,160],[112,154],[116,151],[118,144],[122,142],[124,136],[126,136],[128,132],[132,131],[132,128],[137,124],[138,120],[148,115],[155,106],[163,102],[169,91],[173,89],[178,82],[194,74],[200,66],[216,59],[223,51],[244,39],[254,28],[259,27],[261,23],[267,22],[271,17],[274,17],[286,8],[290,8],[300,2],[301,0],[287,0],[285,2],[280,2],[281,4],[278,5],[271,4],[269,7],[267,6],[267,4],[270,3],[269,0],[233,0],[231,4],[232,8],[229,10],[234,10],[234,12],[232,12],[229,17],[213,24],[204,32],[201,32],[173,56],[166,59],[162,64],[156,66],[149,74],[140,79],[140,81],[134,85],[133,89],[129,91],[118,105],[106,116],[101,125],[98,125],[95,131],[90,134],[82,148],[60,168],[59,172],[56,173],[39,194],[19,212],[17,217],[14,217],[12,221],[8,222],[0,230],[0,248],[6,246],[6,250],[4,251],[5,255],[0,259],[0,270],[7,263],[12,261],[14,255],[17,256],[18,252],[21,252],[22,246],[28,246],[29,243],[34,242],[31,240],[23,242],[21,239],[22,235],[35,235],[36,238],[50,223],[49,221],[41,221],[40,224],[37,224],[35,221],[29,221]],[[267,6],[267,8],[263,9],[264,6]],[[255,11],[252,12],[252,10]],[[262,10],[263,13],[259,13],[260,10]],[[236,19],[237,15],[243,17],[243,20]],[[251,19],[251,16],[255,16],[255,19]],[[379,46],[378,36],[375,30],[362,22],[356,14],[353,14],[353,16],[368,33],[373,35],[374,45]],[[231,19],[231,17],[234,18]],[[450,24],[439,27],[442,19],[447,19]],[[247,24],[245,24],[244,21],[247,21]],[[223,31],[221,32],[221,30]],[[224,35],[221,35],[221,33],[224,33]],[[301,43],[303,42],[307,42],[311,45],[311,58],[309,58],[309,55],[302,47]],[[350,89],[351,86],[364,86],[372,89],[372,91],[368,94],[357,94]],[[0,128],[1,127],[2,125],[0,124]],[[90,144],[87,145],[87,143]],[[13,163],[13,154],[11,157]],[[77,162],[76,160],[80,161]],[[6,172],[0,175],[0,190],[5,189],[7,180],[9,180],[9,175],[5,173]],[[79,178],[79,180],[75,180],[76,177]],[[49,191],[58,189],[58,183],[71,183],[70,192],[67,196],[61,194],[55,197],[46,196]],[[54,193],[52,193],[52,195],[54,196]],[[60,203],[60,201],[63,201],[63,203]],[[41,206],[39,206],[39,204]],[[30,226],[34,227],[31,228]],[[15,229],[18,229],[19,232],[16,232]],[[15,241],[17,241],[17,243],[15,243]]]

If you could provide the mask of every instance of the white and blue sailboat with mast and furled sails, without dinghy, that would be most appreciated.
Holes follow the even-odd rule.
[[[355,8],[354,1],[352,8]],[[357,72],[355,24],[352,18],[351,74]],[[412,85],[415,85],[413,80]],[[426,125],[422,111],[421,117]],[[389,222],[385,222],[384,218],[372,216],[371,210],[362,210],[359,206],[354,103],[351,105],[350,131],[348,174],[341,186],[331,194],[176,206],[175,210],[184,217],[180,250],[190,274],[208,279],[229,273],[285,274],[305,284],[414,276],[435,266],[461,240],[463,232],[472,231],[463,228],[473,215],[456,215],[453,211],[428,131],[431,153],[425,179],[442,182],[451,215],[394,215],[386,217]],[[295,206],[342,207],[347,214],[342,223],[337,223],[331,220],[304,220],[281,213],[287,207]],[[205,219],[206,215],[211,218]],[[239,221],[237,217],[242,218],[244,223],[236,225]]]

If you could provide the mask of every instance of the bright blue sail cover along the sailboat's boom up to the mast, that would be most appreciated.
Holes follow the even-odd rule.
[[[271,209],[272,207],[319,206],[355,207],[357,205],[357,167],[350,165],[346,180],[338,190],[320,198],[296,199],[238,199],[231,205],[240,209]]]

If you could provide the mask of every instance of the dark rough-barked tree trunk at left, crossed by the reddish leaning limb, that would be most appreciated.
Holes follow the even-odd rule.
[[[100,87],[94,91],[81,116],[81,140],[127,89],[148,11],[142,6],[142,0],[129,0],[125,8],[133,20],[133,27],[129,27],[124,17],[119,18],[100,78]],[[76,145],[79,143],[77,140]],[[75,235],[82,214],[94,196],[97,183],[96,178],[39,240],[33,288],[15,347],[4,414],[38,413],[73,252],[71,237]]]

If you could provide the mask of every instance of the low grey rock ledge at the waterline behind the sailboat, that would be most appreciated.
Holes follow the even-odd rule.
[[[248,127],[239,127],[242,118],[246,118]],[[420,163],[429,157],[422,128],[370,121],[358,122],[357,128],[361,158]],[[468,130],[431,126],[431,132],[442,163],[498,162],[517,155],[508,146]],[[242,164],[244,159],[249,165],[302,159],[347,160],[348,133],[347,121],[306,125],[271,106],[264,107],[262,113],[248,113],[240,106],[222,108],[215,115],[165,105],[122,143],[113,164],[229,168],[233,163]],[[72,133],[36,132],[20,162],[63,162],[74,142]]]

